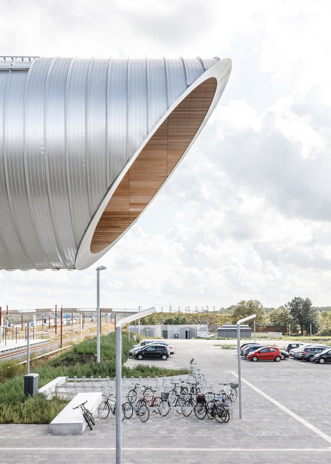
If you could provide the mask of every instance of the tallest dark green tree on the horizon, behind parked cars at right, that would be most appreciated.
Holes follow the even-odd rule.
[[[295,297],[286,303],[285,307],[290,310],[294,320],[297,321],[300,326],[301,335],[303,335],[303,330],[310,332],[310,324],[311,333],[316,333],[318,331],[318,309],[313,308],[312,302],[309,298]]]

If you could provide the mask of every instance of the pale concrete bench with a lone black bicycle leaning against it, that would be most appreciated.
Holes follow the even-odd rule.
[[[87,423],[78,409],[72,409],[87,400],[85,406],[94,413],[101,403],[101,393],[78,393],[69,404],[50,423],[50,433],[53,435],[68,435],[83,433]]]

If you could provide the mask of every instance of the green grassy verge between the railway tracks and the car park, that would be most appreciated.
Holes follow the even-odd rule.
[[[123,332],[122,364],[129,356],[133,341]],[[96,337],[75,344],[70,350],[55,359],[46,361],[30,372],[39,374],[39,387],[44,386],[59,376],[79,377],[115,377],[115,333],[100,337],[100,363],[95,362]],[[39,363],[40,364],[40,361]],[[175,370],[139,365],[135,368],[122,367],[122,375],[126,378],[173,376],[187,374],[187,369]],[[24,394],[24,375],[26,365],[18,365],[17,361],[0,363],[0,423],[16,424],[49,424],[65,407],[69,400],[53,397],[47,400],[43,394],[26,397]]]

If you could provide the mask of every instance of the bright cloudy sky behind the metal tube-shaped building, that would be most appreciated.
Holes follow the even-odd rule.
[[[3,0],[4,55],[231,58],[170,181],[97,265],[102,307],[331,304],[331,4]],[[0,305],[96,306],[85,271],[0,271]]]

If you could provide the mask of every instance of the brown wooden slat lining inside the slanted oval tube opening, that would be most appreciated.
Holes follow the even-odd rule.
[[[198,132],[216,87],[214,77],[196,87],[147,142],[110,198],[94,231],[91,253],[114,242],[156,195]]]

